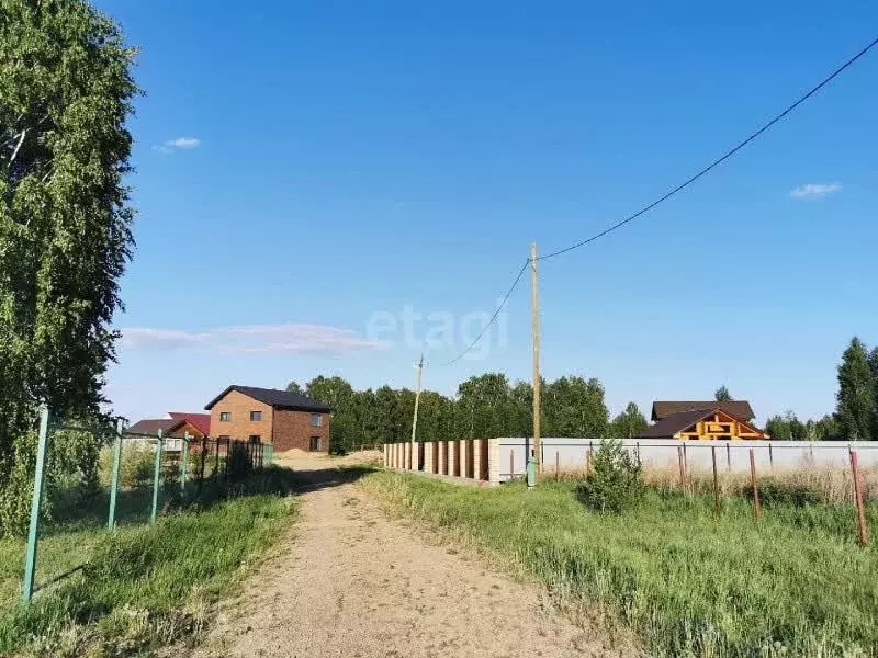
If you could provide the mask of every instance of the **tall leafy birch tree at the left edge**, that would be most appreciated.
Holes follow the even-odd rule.
[[[132,246],[132,58],[85,0],[0,0],[0,534],[25,522],[38,405],[100,415]],[[97,451],[71,445],[88,488]]]

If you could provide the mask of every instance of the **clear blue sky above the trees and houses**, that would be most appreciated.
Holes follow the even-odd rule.
[[[413,387],[428,330],[426,387],[529,378],[527,279],[505,336],[432,364],[531,241],[660,196],[878,26],[874,2],[616,4],[101,1],[146,91],[115,409],[322,373]],[[721,384],[761,420],[831,411],[847,341],[878,342],[876,79],[878,53],[671,202],[542,262],[544,376],[600,378],[614,413]],[[407,332],[406,313],[429,320]]]

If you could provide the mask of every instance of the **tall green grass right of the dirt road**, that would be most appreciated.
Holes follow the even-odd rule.
[[[627,625],[650,656],[878,655],[878,556],[847,506],[770,507],[757,525],[740,498],[718,520],[711,497],[650,490],[615,517],[564,481],[475,489],[381,472],[364,486]]]

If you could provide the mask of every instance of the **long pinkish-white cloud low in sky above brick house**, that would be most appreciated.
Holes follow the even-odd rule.
[[[195,348],[223,354],[344,354],[385,347],[350,329],[320,325],[247,325],[209,329],[200,333],[132,327],[122,329],[122,344],[153,351]]]

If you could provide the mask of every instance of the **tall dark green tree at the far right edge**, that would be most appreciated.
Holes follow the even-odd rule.
[[[876,423],[876,381],[866,345],[854,337],[838,365],[835,417],[842,436],[848,441],[873,439]]]

